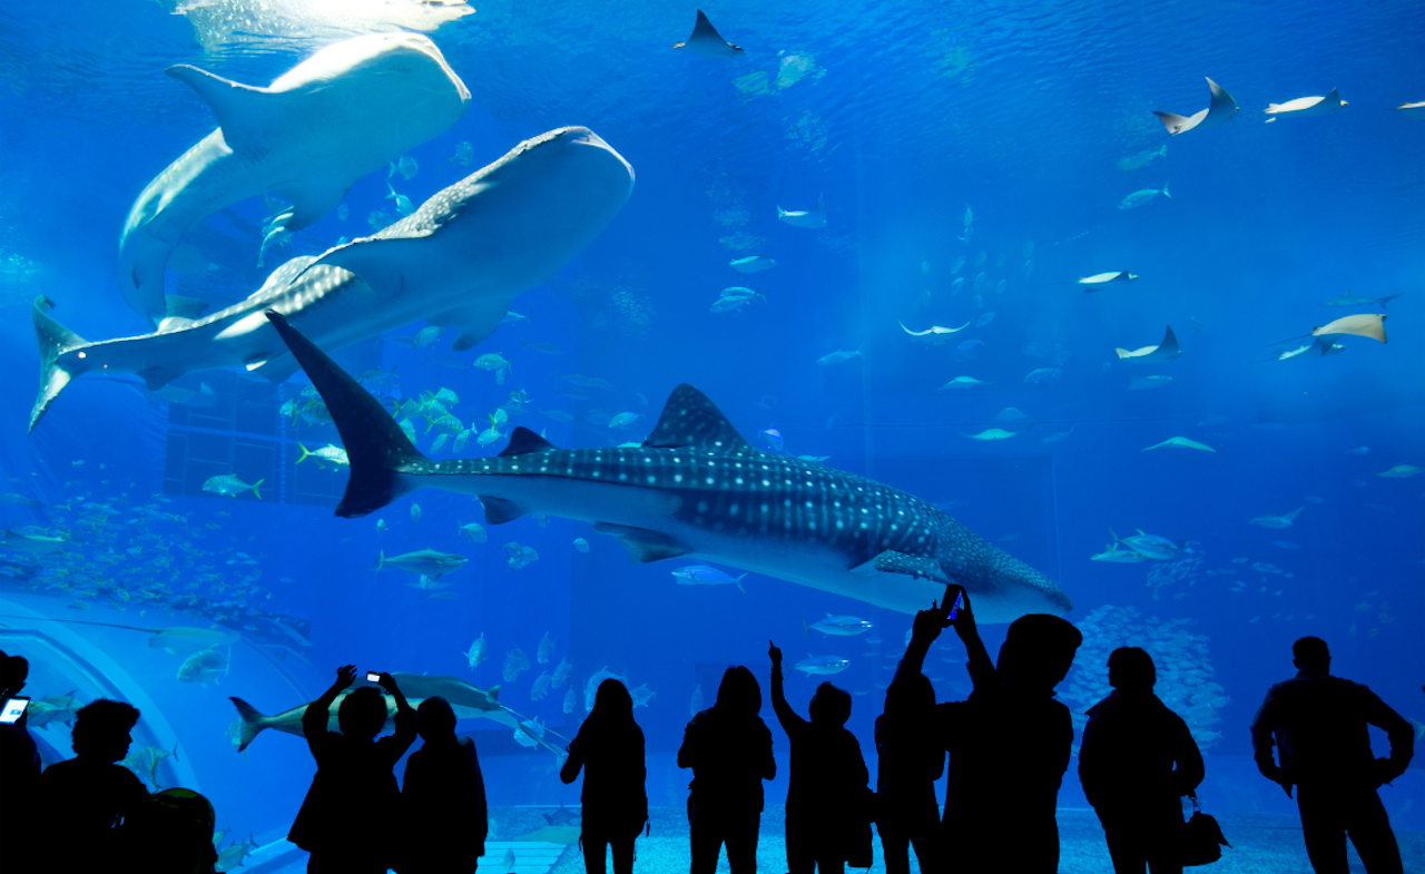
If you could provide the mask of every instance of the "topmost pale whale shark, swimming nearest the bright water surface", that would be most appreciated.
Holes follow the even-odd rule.
[[[124,301],[155,327],[170,315],[164,265],[188,228],[249,197],[292,207],[298,231],[336,208],[358,178],[445,133],[470,91],[428,37],[375,33],[328,46],[255,87],[178,64],[168,74],[212,108],[218,130],[144,187],[118,238]]]

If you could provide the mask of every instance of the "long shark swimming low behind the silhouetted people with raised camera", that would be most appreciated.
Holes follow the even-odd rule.
[[[459,677],[440,677],[430,674],[410,674],[410,673],[393,673],[392,679],[396,680],[396,686],[400,687],[400,693],[406,696],[406,700],[412,707],[418,707],[420,701],[429,697],[440,696],[450,707],[455,710],[457,719],[487,719],[516,731],[523,733],[530,740],[539,746],[547,749],[559,757],[564,757],[564,747],[569,741],[564,737],[547,730],[530,729],[530,723],[520,713],[510,710],[500,703],[500,687],[493,686],[489,690],[472,686]],[[332,731],[338,730],[336,713],[341,710],[341,703],[346,699],[351,692],[343,692],[336,696],[332,701],[328,719],[328,729]],[[234,739],[238,746],[238,751],[248,749],[248,744],[256,739],[262,731],[272,729],[274,731],[285,731],[286,734],[296,734],[298,737],[305,737],[302,731],[302,716],[311,706],[311,701],[305,704],[298,704],[291,710],[284,710],[268,716],[258,711],[256,707],[244,701],[242,699],[228,699],[232,706],[238,709],[238,716],[242,719],[242,727],[238,737]],[[396,717],[396,700],[386,696],[386,727],[392,726],[392,720]]]

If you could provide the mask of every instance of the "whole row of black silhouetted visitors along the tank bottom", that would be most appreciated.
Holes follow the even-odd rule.
[[[923,662],[948,627],[965,647],[973,689],[965,700],[938,703]],[[949,586],[942,602],[915,616],[886,687],[875,720],[875,791],[861,744],[845,727],[851,694],[824,682],[801,716],[787,700],[782,652],[770,643],[772,710],[791,749],[788,874],[869,868],[872,824],[888,874],[908,874],[912,850],[922,871],[1054,874],[1057,796],[1074,741],[1072,714],[1054,699],[1054,687],[1082,642],[1064,619],[1023,616],[992,660],[968,595]],[[1295,793],[1318,874],[1347,873],[1347,840],[1369,874],[1401,873],[1378,788],[1409,766],[1412,727],[1365,686],[1331,676],[1324,640],[1302,637],[1292,654],[1297,676],[1271,687],[1251,724],[1257,766],[1288,797]],[[1197,807],[1203,756],[1183,717],[1153,693],[1151,656],[1120,647],[1107,670],[1113,692],[1087,711],[1077,773],[1114,873],[1180,874],[1186,864],[1217,858],[1227,840],[1216,821],[1184,821],[1184,798]],[[20,694],[27,673],[24,659],[0,653],[7,701]],[[412,709],[390,674],[369,679],[376,686],[352,689],[356,669],[339,669],[331,689],[302,714],[316,774],[288,840],[311,854],[314,874],[473,874],[489,831],[475,741],[456,734],[456,713],[445,699],[429,697]],[[757,871],[762,783],[777,777],[761,707],[754,673],[730,667],[717,701],[687,724],[677,761],[693,771],[693,874],[714,874],[724,848],[732,874]],[[188,790],[150,794],[117,764],[140,716],[131,704],[104,699],[80,709],[74,759],[43,773],[24,716],[0,724],[0,840],[14,870],[88,873],[135,854],[150,871],[214,870],[207,800]],[[392,733],[382,736],[388,726]],[[1387,733],[1388,757],[1374,757],[1368,726]],[[423,744],[398,786],[395,768],[418,736]],[[593,710],[569,744],[560,777],[573,783],[580,774],[587,874],[604,874],[610,854],[614,874],[631,874],[636,841],[650,828],[647,771],[633,697],[617,679],[598,686]],[[942,776],[943,810],[935,797]],[[63,834],[37,813],[61,808]],[[64,857],[41,865],[33,848],[60,843]]]

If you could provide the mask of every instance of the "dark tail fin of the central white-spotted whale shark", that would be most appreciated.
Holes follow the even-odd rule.
[[[272,309],[266,311],[266,317],[306,371],[342,435],[351,461],[351,479],[342,502],[336,505],[336,515],[343,519],[365,516],[413,492],[418,486],[403,473],[423,473],[430,462],[406,438],[396,419],[316,344],[289,325],[286,317]]]

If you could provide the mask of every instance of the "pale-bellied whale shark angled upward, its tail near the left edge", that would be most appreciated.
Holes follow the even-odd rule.
[[[265,309],[331,348],[416,319],[459,329],[452,348],[470,348],[514,298],[597,237],[631,190],[633,168],[618,153],[586,127],[563,127],[520,143],[372,237],[288,261],[249,298],[201,319],[171,317],[152,334],[88,342],[56,321],[41,297],[33,311],[40,395],[30,431],[87,372],[137,374],[151,391],[214,368],[282,382],[298,365]]]

